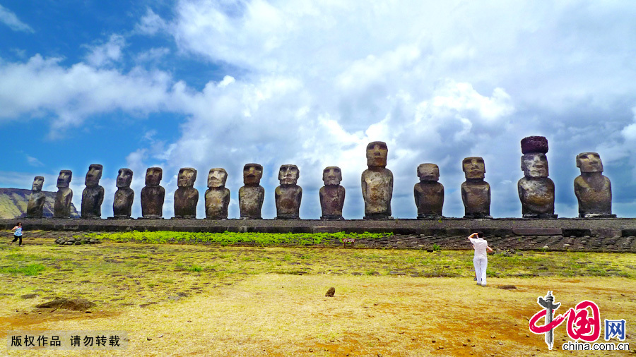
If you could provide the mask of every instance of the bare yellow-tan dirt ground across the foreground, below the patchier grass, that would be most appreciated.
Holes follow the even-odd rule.
[[[124,351],[16,351],[7,356],[632,356],[635,284],[617,277],[472,279],[259,274],[177,301],[91,313],[33,308],[20,301],[0,311],[0,337],[44,330],[124,331]],[[517,289],[497,289],[514,285]],[[332,298],[324,294],[336,288]],[[553,291],[558,313],[582,300],[602,320],[627,320],[631,351],[562,351],[529,332]],[[604,331],[601,327],[601,331]],[[603,341],[601,339],[599,342]],[[9,343],[10,340],[7,342]]]

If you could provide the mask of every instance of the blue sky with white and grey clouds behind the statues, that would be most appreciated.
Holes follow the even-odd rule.
[[[389,146],[395,217],[416,217],[416,167],[440,166],[444,215],[461,217],[461,160],[485,159],[495,217],[519,217],[519,140],[548,138],[556,212],[576,217],[579,152],[599,152],[613,211],[636,217],[636,4],[632,1],[2,1],[0,186],[57,190],[103,164],[114,179],[180,167],[265,167],[274,217],[281,164],[300,168],[300,215],[317,218],[322,169],[339,166],[344,215],[363,217],[365,146]]]

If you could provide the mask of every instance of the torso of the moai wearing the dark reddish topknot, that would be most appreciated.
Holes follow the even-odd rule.
[[[550,178],[522,178],[517,183],[522,214],[554,214],[554,182]]]

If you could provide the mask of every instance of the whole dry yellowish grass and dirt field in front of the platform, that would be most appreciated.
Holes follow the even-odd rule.
[[[548,355],[543,336],[529,332],[528,319],[539,310],[537,296],[552,290],[563,310],[588,299],[599,305],[601,319],[625,318],[626,342],[635,348],[635,280],[631,277],[492,277],[489,286],[481,287],[472,281],[466,263],[459,261],[468,256],[461,252],[435,255],[397,250],[127,244],[78,248],[81,250],[74,251],[73,259],[69,250],[50,246],[0,252],[7,257],[21,252],[32,259],[63,257],[76,267],[66,272],[46,270],[35,277],[2,274],[4,290],[16,295],[0,298],[4,306],[0,310],[0,330],[4,332],[0,337],[5,339],[8,331],[20,329],[119,330],[130,338],[126,351],[29,351],[33,356],[543,356]],[[142,251],[148,257],[144,258]],[[98,261],[105,258],[123,262]],[[429,258],[450,266],[444,271],[454,270],[464,277],[408,274]],[[533,260],[536,256],[528,253],[524,258]],[[636,260],[635,255],[584,254],[573,258],[589,261],[585,264],[594,265],[594,269],[606,266],[610,272],[618,269],[617,265],[629,270]],[[458,261],[454,264],[453,259]],[[547,265],[544,260],[536,262]],[[193,266],[202,270],[187,270]],[[334,274],[321,273],[329,269]],[[522,267],[528,269],[527,265]],[[292,270],[307,273],[281,274]],[[364,274],[375,270],[381,275]],[[363,274],[343,274],[347,271]],[[389,271],[407,275],[384,275]],[[119,275],[109,279],[112,274]],[[80,284],[84,279],[90,283]],[[506,284],[517,289],[497,289]],[[333,298],[324,296],[330,286],[336,288]],[[44,296],[40,300],[19,298],[35,288],[42,295],[76,294],[98,298],[99,303],[90,314],[36,309],[35,303]],[[183,291],[189,296],[168,298]],[[119,297],[112,299],[112,294]],[[120,305],[122,301],[133,301],[134,305]],[[155,303],[140,307],[148,301]],[[555,330],[555,347],[559,349],[550,356],[565,354],[560,345],[566,340],[565,325],[561,325]],[[2,349],[7,355],[24,355],[23,351]]]

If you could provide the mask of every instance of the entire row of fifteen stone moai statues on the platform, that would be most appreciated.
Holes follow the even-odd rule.
[[[556,218],[554,214],[554,183],[548,178],[548,140],[543,136],[530,136],[521,142],[521,168],[524,177],[517,183],[519,200],[524,218]],[[373,142],[367,145],[367,169],[361,177],[365,202],[365,219],[390,219],[393,195],[393,174],[387,169],[387,144]],[[611,213],[612,192],[609,178],[603,176],[603,164],[596,152],[577,155],[577,167],[581,175],[575,179],[575,194],[579,201],[579,217],[616,217]],[[466,157],[462,162],[466,181],[461,183],[461,200],[464,202],[464,218],[493,218],[490,216],[490,185],[484,181],[485,164],[481,157]],[[438,182],[440,169],[436,164],[420,164],[417,169],[420,182],[413,188],[418,209],[418,219],[442,218],[444,186]],[[160,186],[163,171],[150,167],[146,171],[146,187],[141,190],[142,218],[162,218],[165,189]],[[70,217],[73,191],[69,188],[72,173],[62,170],[57,179],[59,188],[54,203],[54,217]],[[104,188],[99,186],[102,165],[92,164],[86,174],[86,188],[82,193],[81,217],[101,217]],[[131,217],[134,191],[130,188],[133,172],[119,169],[117,192],[114,194],[113,216],[116,219]],[[246,164],[243,183],[239,189],[240,217],[260,219],[265,189],[260,186],[263,167]],[[276,219],[300,219],[302,188],[298,186],[300,170],[296,165],[285,164],[278,171],[281,185],[275,190]],[[225,188],[228,173],[225,169],[211,169],[208,174],[208,190],[205,194],[206,217],[227,219],[230,190]],[[343,219],[342,209],[345,188],[340,186],[341,170],[326,167],[322,173],[324,186],[319,190],[321,219]],[[179,169],[175,191],[175,218],[196,218],[199,191],[194,188],[196,170]],[[36,176],[33,193],[27,207],[27,217],[42,217],[44,194],[41,192],[44,178]]]

